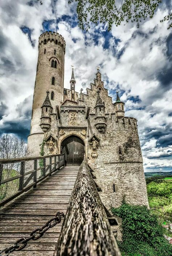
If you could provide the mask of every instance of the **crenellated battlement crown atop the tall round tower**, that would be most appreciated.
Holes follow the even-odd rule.
[[[60,45],[64,49],[66,47],[66,42],[64,37],[61,36],[59,33],[52,32],[52,31],[46,31],[40,35],[39,41],[38,41],[38,48],[41,45],[45,45],[47,43],[54,43],[54,44]]]

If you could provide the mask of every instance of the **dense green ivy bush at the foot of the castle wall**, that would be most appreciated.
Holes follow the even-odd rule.
[[[172,247],[164,238],[163,227],[146,206],[125,202],[112,213],[122,218],[123,242],[118,242],[123,256],[171,256]]]

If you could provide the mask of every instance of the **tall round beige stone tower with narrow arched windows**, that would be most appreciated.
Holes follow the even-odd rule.
[[[56,112],[56,106],[63,101],[65,46],[64,38],[58,33],[46,31],[39,37],[32,120],[28,137],[28,147],[31,149],[34,141],[42,143],[44,137],[40,127],[40,118],[46,91],[50,92],[49,98],[53,113]],[[34,147],[34,151],[34,155],[39,155],[39,145],[36,149]]]

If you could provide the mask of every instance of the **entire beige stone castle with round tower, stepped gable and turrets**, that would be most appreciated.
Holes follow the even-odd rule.
[[[55,32],[39,37],[28,147],[34,156],[65,154],[66,165],[80,165],[86,155],[107,211],[127,203],[148,206],[137,120],[124,115],[124,103],[108,96],[101,73],[86,94],[64,88],[65,40]],[[118,223],[120,220],[117,220]]]

